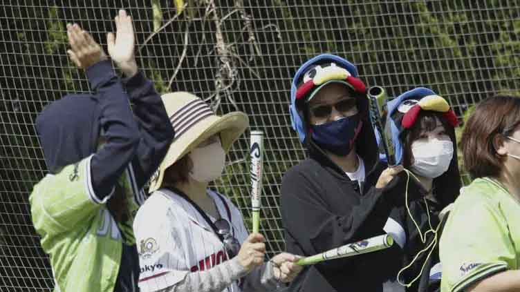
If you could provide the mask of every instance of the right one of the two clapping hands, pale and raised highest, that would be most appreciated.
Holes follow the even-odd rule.
[[[133,35],[132,18],[125,10],[119,10],[114,21],[115,36],[112,32],[106,35],[109,55],[124,75],[132,77],[138,70],[134,54],[136,39]]]

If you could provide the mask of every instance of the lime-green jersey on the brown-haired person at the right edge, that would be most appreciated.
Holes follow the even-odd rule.
[[[441,291],[464,291],[519,269],[519,260],[520,202],[494,179],[475,179],[461,189],[440,238]]]

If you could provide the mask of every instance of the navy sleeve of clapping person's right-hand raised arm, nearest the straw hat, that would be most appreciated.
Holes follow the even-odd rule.
[[[141,189],[163,161],[174,139],[174,128],[154,84],[141,71],[123,79],[123,84],[139,127],[137,153],[131,165],[137,187]]]

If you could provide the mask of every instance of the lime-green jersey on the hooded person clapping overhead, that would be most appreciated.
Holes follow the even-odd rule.
[[[131,166],[118,180],[131,214],[117,224],[91,184],[91,157],[47,175],[29,197],[32,222],[41,246],[50,255],[55,292],[112,292],[121,261],[122,243],[133,245],[132,222],[138,204]]]

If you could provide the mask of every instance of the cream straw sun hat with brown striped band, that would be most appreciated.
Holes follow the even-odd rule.
[[[158,170],[150,179],[149,191],[156,191],[163,183],[165,169],[193,150],[205,139],[220,133],[226,153],[248,128],[248,116],[241,112],[215,115],[202,99],[191,93],[167,93],[161,96],[166,113],[175,130],[174,141]]]

